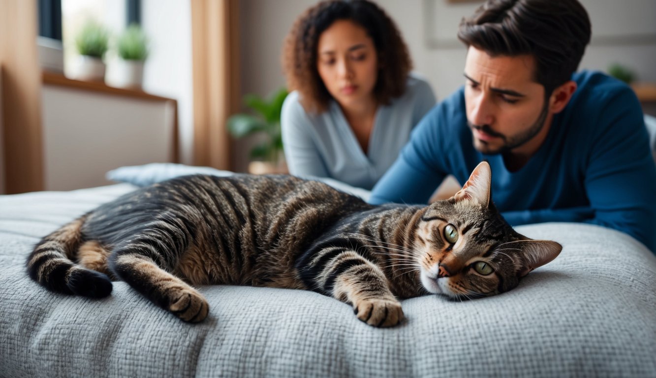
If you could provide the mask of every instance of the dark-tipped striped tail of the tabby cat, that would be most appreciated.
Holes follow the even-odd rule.
[[[56,293],[91,298],[103,298],[112,293],[112,281],[106,274],[73,262],[86,218],[75,219],[37,243],[27,261],[32,280]]]

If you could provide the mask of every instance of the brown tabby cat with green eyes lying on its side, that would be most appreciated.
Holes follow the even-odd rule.
[[[369,205],[291,176],[178,177],[52,232],[27,266],[47,289],[91,298],[124,280],[186,322],[209,312],[192,285],[234,284],[314,290],[394,326],[399,299],[502,293],[560,253],[504,221],[490,179],[483,162],[453,198],[422,207]]]

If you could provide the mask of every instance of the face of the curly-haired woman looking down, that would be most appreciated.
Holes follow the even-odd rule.
[[[335,21],[318,43],[317,70],[342,107],[373,100],[378,54],[367,31],[350,20]]]

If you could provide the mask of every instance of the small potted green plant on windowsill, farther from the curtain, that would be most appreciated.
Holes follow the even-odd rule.
[[[102,58],[107,52],[109,31],[101,24],[88,21],[75,37],[77,56],[74,76],[78,80],[104,81],[105,63]]]

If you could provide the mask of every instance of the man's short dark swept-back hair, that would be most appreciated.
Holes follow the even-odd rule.
[[[488,0],[462,19],[458,38],[491,56],[532,55],[534,79],[549,96],[579,67],[590,33],[577,0]]]

